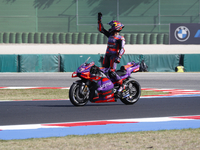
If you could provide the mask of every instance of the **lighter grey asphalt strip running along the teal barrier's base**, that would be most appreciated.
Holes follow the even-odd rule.
[[[72,73],[1,73],[0,86],[7,87],[69,87],[78,78]],[[140,73],[132,74],[142,88],[172,88],[200,90],[200,73]]]

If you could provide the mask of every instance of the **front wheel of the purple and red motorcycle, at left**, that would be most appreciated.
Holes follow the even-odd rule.
[[[80,93],[80,91],[82,92]],[[89,100],[88,87],[73,83],[69,89],[69,99],[74,106],[86,105]]]

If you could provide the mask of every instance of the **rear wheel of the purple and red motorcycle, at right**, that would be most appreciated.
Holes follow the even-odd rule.
[[[140,84],[136,80],[128,80],[124,85],[126,89],[122,93],[121,101],[126,105],[136,103],[141,95]]]

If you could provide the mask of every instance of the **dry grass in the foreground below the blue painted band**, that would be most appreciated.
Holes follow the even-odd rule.
[[[26,140],[0,140],[3,150],[199,150],[200,128],[126,132],[116,134],[69,135]]]

